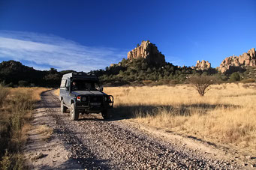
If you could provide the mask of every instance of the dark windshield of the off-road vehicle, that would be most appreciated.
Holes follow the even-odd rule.
[[[71,83],[71,89],[72,91],[100,91],[100,86],[97,82],[74,79]]]

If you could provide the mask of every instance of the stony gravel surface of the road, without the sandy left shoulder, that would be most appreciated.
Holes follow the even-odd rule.
[[[236,163],[212,160],[206,154],[150,136],[131,124],[104,121],[101,115],[70,121],[59,105],[53,91],[42,94],[40,107],[54,122],[53,135],[68,151],[67,160],[81,169],[241,169]]]

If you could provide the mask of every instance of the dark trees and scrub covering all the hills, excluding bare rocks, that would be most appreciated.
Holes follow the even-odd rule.
[[[0,82],[8,87],[59,87],[62,75],[72,70],[58,72],[51,68],[47,71],[35,70],[18,61],[3,61],[0,63]],[[186,83],[193,75],[214,76],[217,82],[255,82],[256,69],[248,67],[245,72],[225,74],[215,68],[196,70],[191,67],[179,67],[171,63],[163,66],[146,61],[145,58],[122,59],[118,64],[112,64],[105,70],[92,70],[89,73],[99,77],[105,86],[119,85],[171,85]]]

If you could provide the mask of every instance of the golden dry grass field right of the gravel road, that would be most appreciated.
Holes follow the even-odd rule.
[[[104,88],[115,99],[113,114],[132,121],[256,152],[254,84],[212,85],[200,97],[189,85]]]

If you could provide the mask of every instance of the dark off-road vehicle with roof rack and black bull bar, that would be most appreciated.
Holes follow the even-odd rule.
[[[83,72],[67,73],[62,76],[59,91],[61,112],[70,110],[71,120],[77,121],[81,114],[101,113],[109,118],[107,109],[113,108],[113,96],[103,92],[97,76]]]

